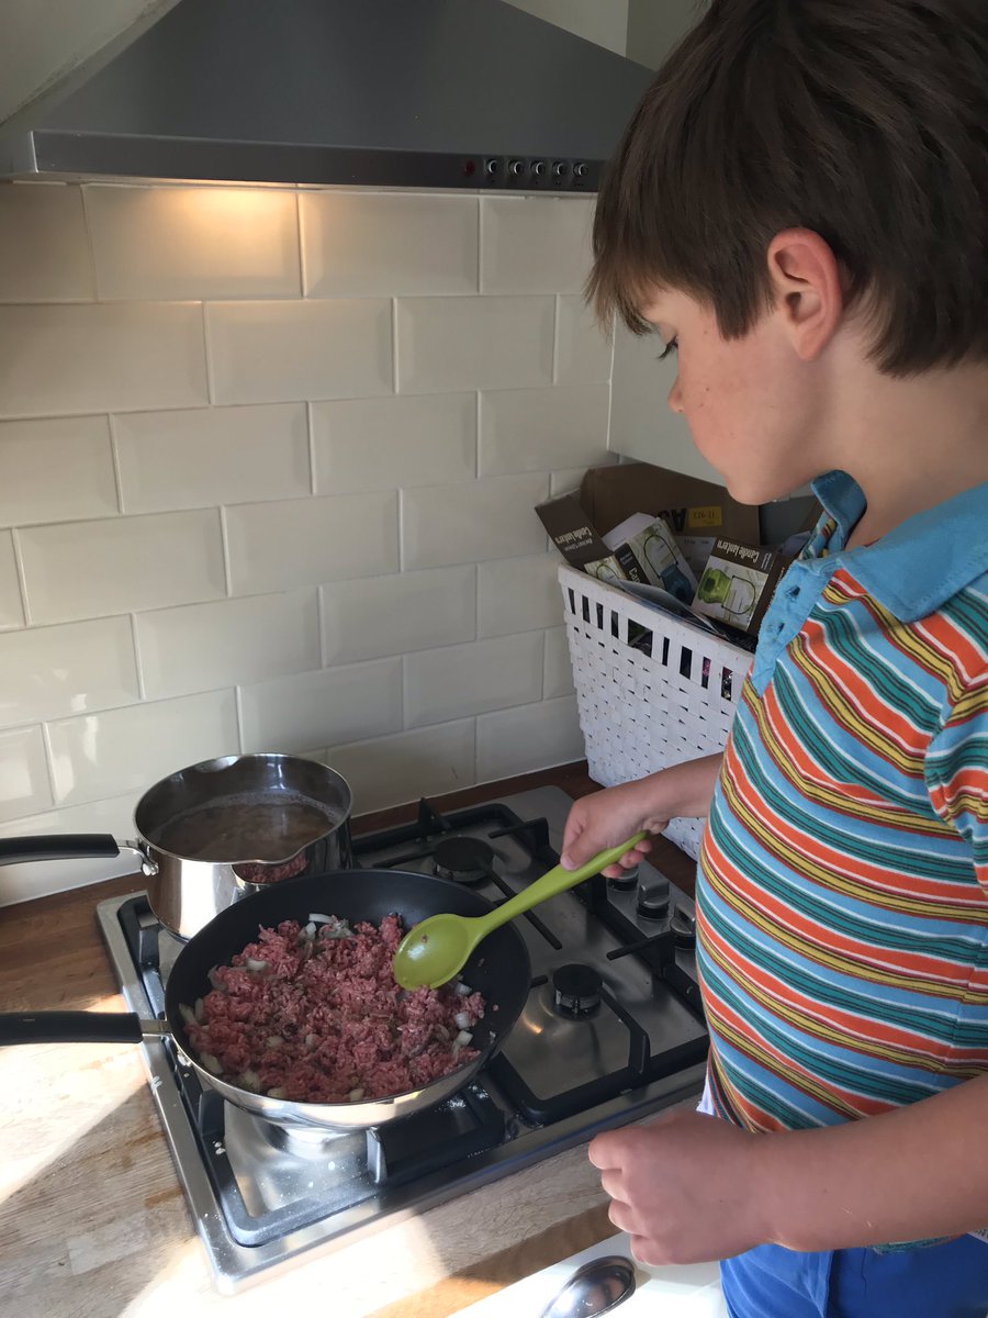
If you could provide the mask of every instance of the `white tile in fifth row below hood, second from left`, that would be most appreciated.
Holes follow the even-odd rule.
[[[157,609],[138,613],[136,626],[149,700],[266,681],[320,663],[315,590]]]

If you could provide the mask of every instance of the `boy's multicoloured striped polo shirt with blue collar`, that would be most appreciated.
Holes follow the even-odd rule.
[[[859,486],[814,490],[697,882],[710,1095],[752,1131],[988,1070],[988,484],[854,550]]]

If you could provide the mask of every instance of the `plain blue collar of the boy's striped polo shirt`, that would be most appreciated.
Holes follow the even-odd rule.
[[[837,522],[827,561],[843,554],[855,579],[902,622],[935,613],[988,572],[988,481],[906,518],[875,544],[847,551],[865,506],[862,488],[846,472],[827,472],[813,493]]]

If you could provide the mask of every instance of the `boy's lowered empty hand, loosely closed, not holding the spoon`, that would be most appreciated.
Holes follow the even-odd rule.
[[[640,1263],[706,1263],[765,1243],[754,1174],[756,1141],[730,1122],[673,1112],[609,1131],[589,1156]]]

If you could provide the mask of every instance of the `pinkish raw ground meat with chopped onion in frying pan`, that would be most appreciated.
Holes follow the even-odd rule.
[[[353,931],[335,917],[262,928],[195,1010],[183,1008],[200,1064],[241,1089],[303,1103],[387,1098],[477,1057],[478,992],[395,983],[395,915]]]

